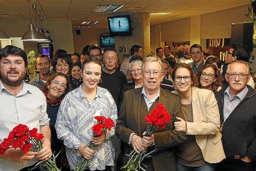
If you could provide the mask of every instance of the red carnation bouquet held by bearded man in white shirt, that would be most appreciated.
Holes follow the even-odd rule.
[[[19,124],[9,133],[8,138],[0,144],[0,155],[4,155],[9,148],[20,149],[24,153],[33,151],[40,152],[42,150],[43,134],[37,133],[37,128],[28,129],[28,126]],[[57,157],[57,156],[56,156]],[[60,171],[55,163],[54,155],[47,161],[39,161],[35,167],[46,171]]]

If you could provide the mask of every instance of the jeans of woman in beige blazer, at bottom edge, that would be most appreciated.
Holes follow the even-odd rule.
[[[176,164],[177,171],[214,171],[216,164],[207,163],[206,166],[191,167],[184,166],[183,164]]]

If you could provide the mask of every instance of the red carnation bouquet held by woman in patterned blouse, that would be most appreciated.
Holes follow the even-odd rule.
[[[95,116],[94,117],[98,123],[93,125],[92,131],[93,131],[93,137],[97,137],[102,135],[104,132],[107,133],[107,131],[110,131],[112,127],[114,127],[114,121],[109,117],[106,118],[104,116]],[[96,146],[91,142],[89,144],[90,149],[96,149]],[[86,158],[81,158],[79,163],[75,167],[75,171],[81,171],[86,170],[89,168],[91,164],[90,160],[86,160]]]

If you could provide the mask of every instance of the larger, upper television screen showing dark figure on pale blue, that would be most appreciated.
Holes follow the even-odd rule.
[[[130,16],[112,16],[107,17],[108,28],[111,35],[128,36],[131,34]]]

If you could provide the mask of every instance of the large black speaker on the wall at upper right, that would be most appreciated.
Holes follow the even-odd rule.
[[[232,23],[230,43],[240,43],[251,52],[253,29],[254,23]]]

